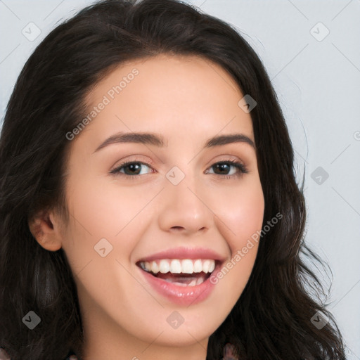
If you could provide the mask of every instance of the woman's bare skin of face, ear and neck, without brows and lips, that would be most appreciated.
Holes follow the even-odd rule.
[[[243,94],[231,76],[195,56],[122,65],[91,91],[90,107],[134,68],[139,75],[70,143],[70,221],[63,224],[50,210],[30,222],[30,230],[41,246],[63,248],[68,257],[84,323],[84,359],[205,360],[208,338],[248,282],[257,244],[207,299],[190,306],[155,292],[135,263],[178,246],[210,248],[229,261],[261,230],[264,195],[255,148],[238,142],[203,149],[217,135],[241,133],[254,141],[252,121],[238,106]],[[114,143],[95,151],[119,131],[157,133],[167,146]],[[226,160],[242,162],[248,173],[214,166]],[[137,175],[129,167],[110,174],[124,161],[150,167],[141,165]],[[177,185],[166,177],[174,166],[185,175]],[[101,238],[113,246],[106,257],[94,250]],[[176,329],[167,323],[173,311],[184,318]]]

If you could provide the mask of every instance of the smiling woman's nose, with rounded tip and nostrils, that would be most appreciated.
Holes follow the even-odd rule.
[[[205,191],[195,180],[179,184],[166,184],[160,199],[158,224],[162,231],[183,233],[205,233],[213,221],[214,214],[206,203]]]

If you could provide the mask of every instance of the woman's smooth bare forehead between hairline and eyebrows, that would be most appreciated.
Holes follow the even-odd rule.
[[[241,98],[229,73],[204,58],[161,55],[131,61],[88,94],[91,121],[78,137],[94,144],[116,131],[159,132],[173,141],[222,130],[252,137],[250,114],[238,105]]]

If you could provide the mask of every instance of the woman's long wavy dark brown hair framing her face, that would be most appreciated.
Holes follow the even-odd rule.
[[[338,327],[319,300],[321,283],[304,263],[320,259],[304,245],[302,188],[264,66],[231,25],[175,0],[106,0],[84,8],[37,46],[20,73],[0,139],[0,345],[13,360],[82,356],[77,289],[65,253],[41,248],[28,219],[46,207],[67,214],[65,134],[83,119],[91,87],[125,61],[161,53],[217,63],[257,101],[250,115],[264,224],[283,215],[259,242],[250,280],[210,336],[207,360],[221,359],[226,342],[244,360],[345,359]],[[34,330],[22,321],[30,310],[41,318]],[[330,319],[321,329],[310,321],[316,311]]]

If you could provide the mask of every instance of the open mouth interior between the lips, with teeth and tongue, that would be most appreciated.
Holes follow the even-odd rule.
[[[137,265],[155,278],[179,286],[196,286],[204,283],[219,264],[214,259],[161,259],[138,262]]]

